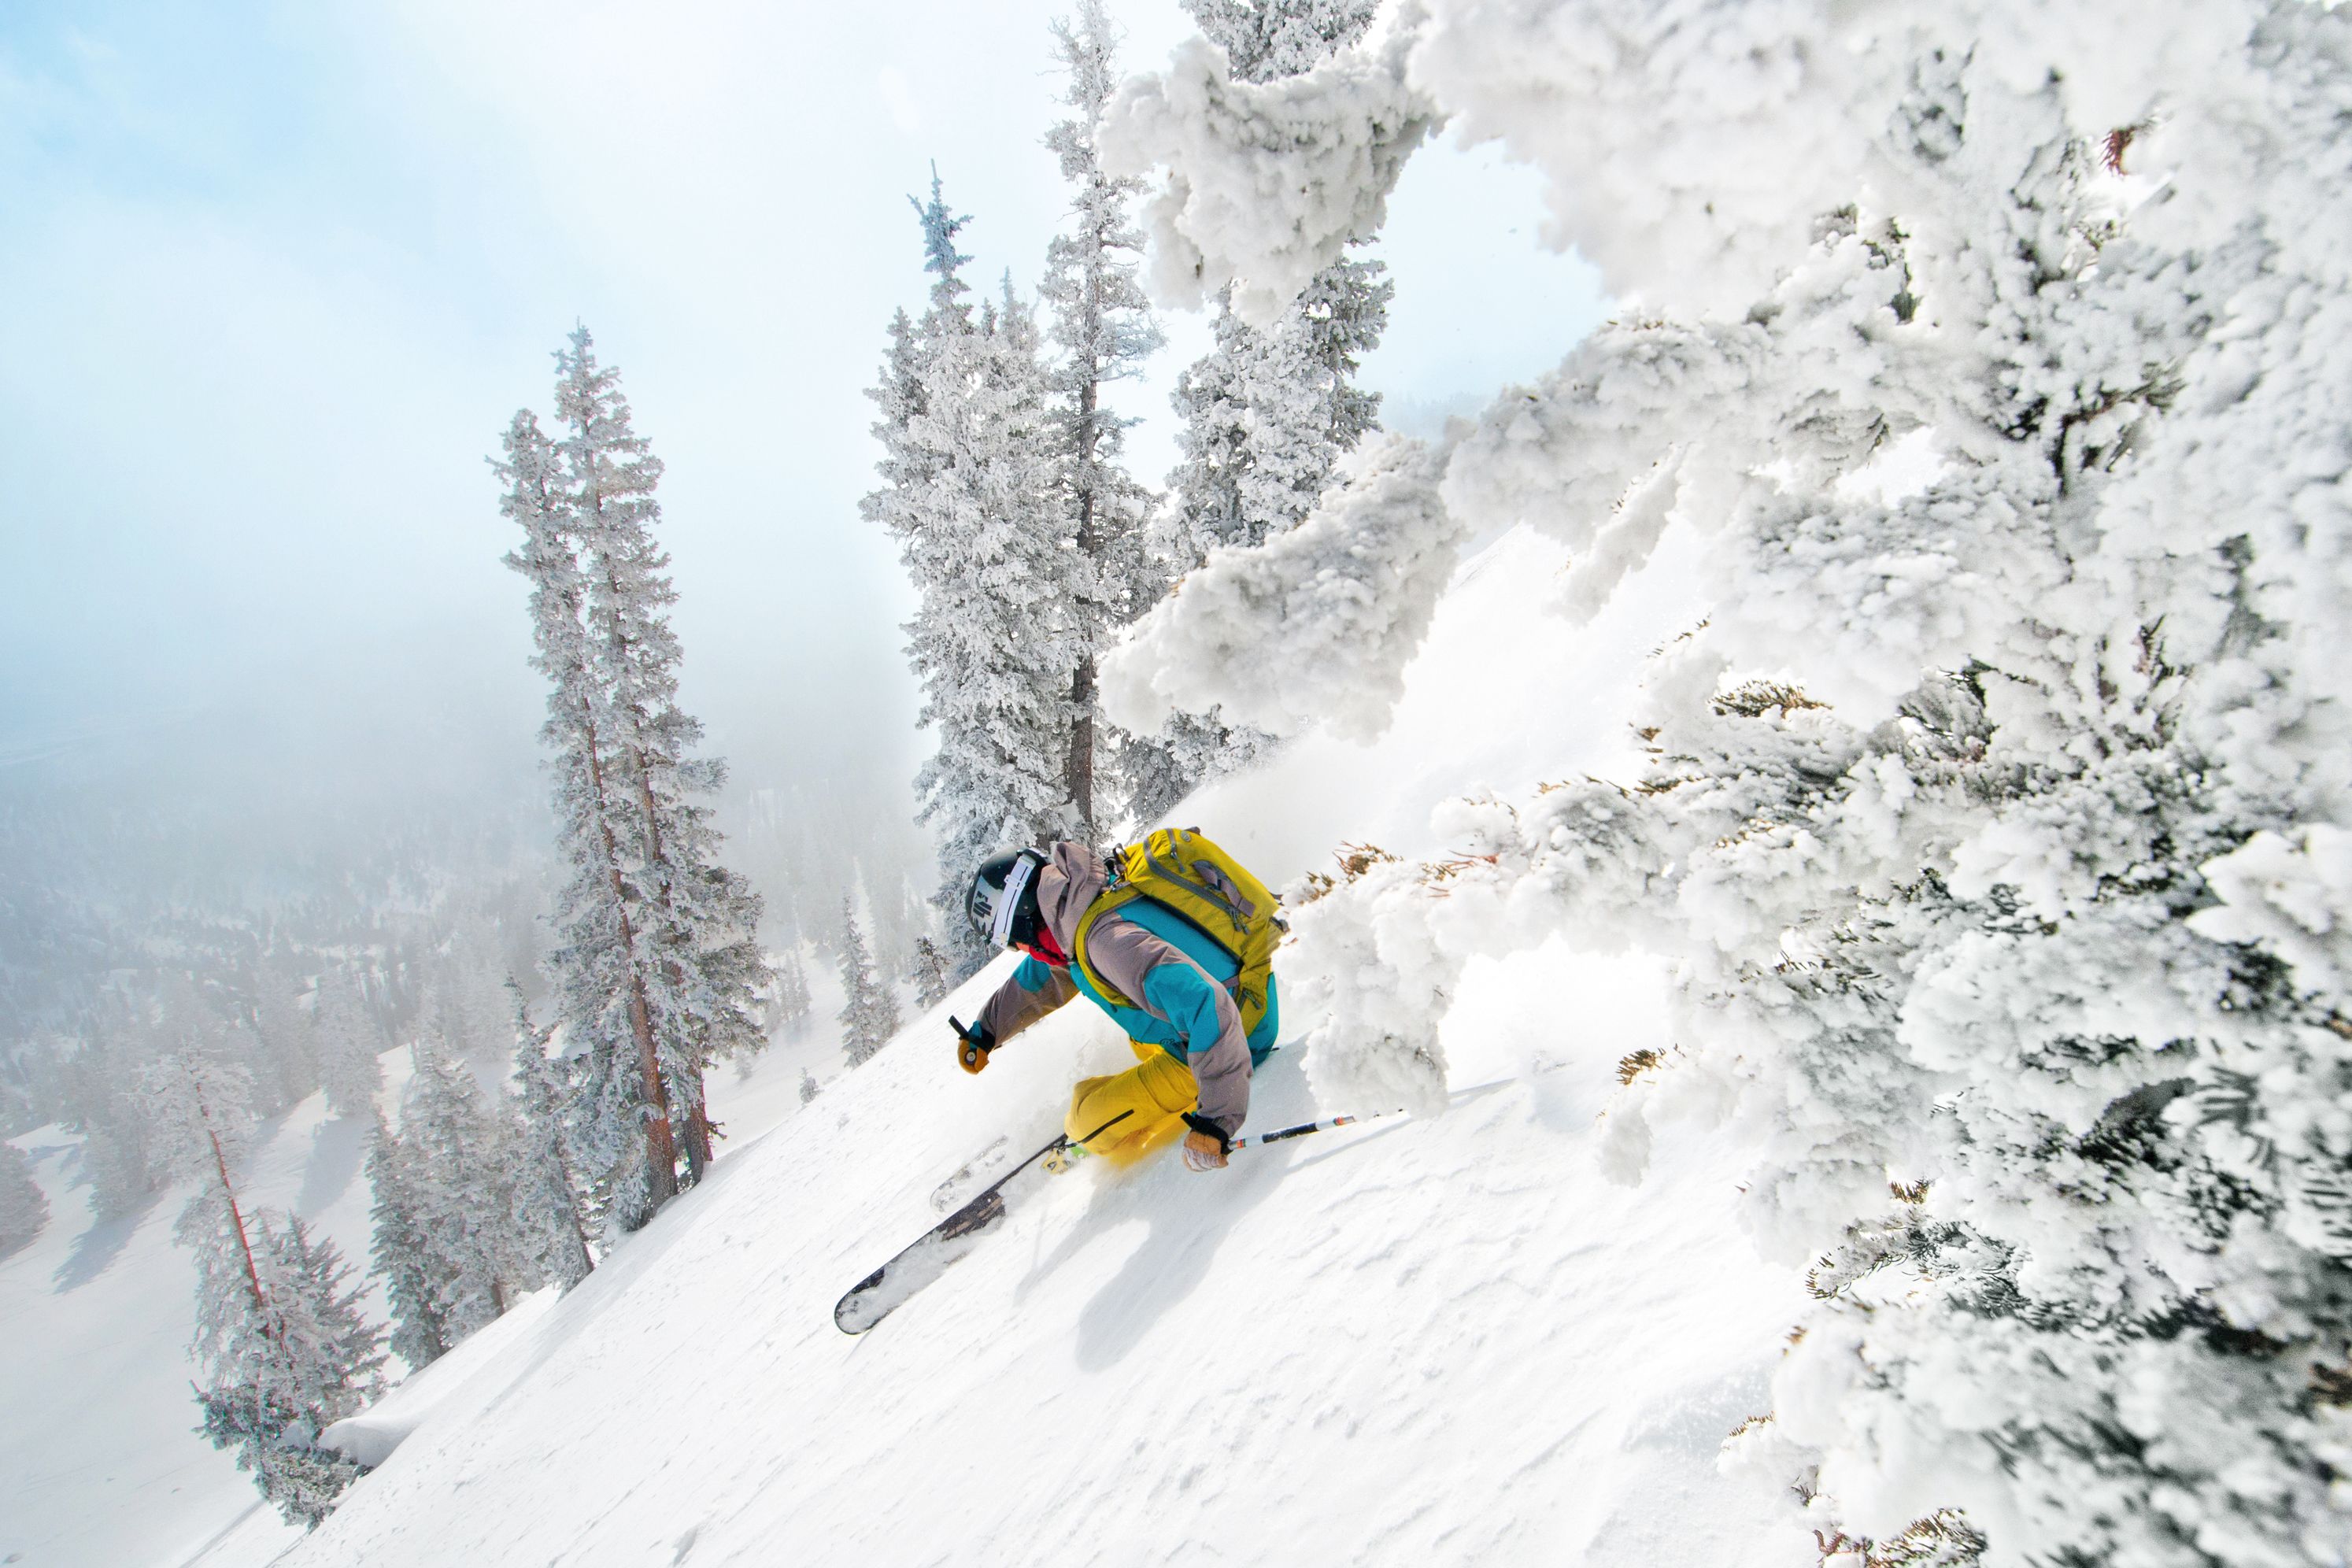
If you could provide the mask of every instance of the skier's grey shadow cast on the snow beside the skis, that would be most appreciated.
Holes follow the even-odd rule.
[[[1108,1371],[1200,1288],[1225,1234],[1244,1213],[1275,1194],[1284,1171],[1289,1171],[1287,1159],[1249,1159],[1235,1161],[1218,1175],[1192,1175],[1169,1150],[1136,1180],[1105,1182],[1087,1206],[1084,1220],[1037,1260],[1018,1293],[1025,1298],[1105,1229],[1143,1218],[1150,1225],[1143,1244],[1077,1316],[1080,1368]]]

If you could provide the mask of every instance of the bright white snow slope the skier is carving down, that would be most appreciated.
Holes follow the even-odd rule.
[[[1338,839],[1423,849],[1465,773],[1606,762],[1630,661],[1529,658],[1557,569],[1505,536],[1378,745],[1308,741],[1183,816],[1291,877]],[[1585,646],[1675,628],[1677,567],[1651,574],[1632,602],[1656,625]],[[1552,684],[1505,698],[1501,658]],[[722,1159],[287,1561],[1811,1561],[1780,1500],[1717,1474],[1802,1284],[1738,1237],[1703,1138],[1661,1133],[1637,1190],[1595,1161],[1616,1063],[1672,1044],[1642,964],[1475,966],[1442,1117],[1216,1175],[1082,1166],[849,1340],[833,1300],[936,1218],[934,1190],[1044,1143],[1073,1077],[1129,1060],[1068,1009],[967,1079],[941,1013],[990,980]],[[1312,1105],[1284,1053],[1251,1121],[1343,1110],[1381,1107]]]

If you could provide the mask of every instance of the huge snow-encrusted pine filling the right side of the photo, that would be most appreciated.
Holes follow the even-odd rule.
[[[1637,1175],[1653,1117],[1752,1152],[1816,1300],[1731,1453],[1839,1559],[2340,1563],[2352,19],[1884,24],[1421,14],[1430,110],[1644,289],[1449,442],[1444,505],[1564,545],[1573,618],[1684,529],[1708,618],[1639,778],[1442,809],[1461,858],[1298,950],[1416,1051],[1470,957],[1668,959],[1682,1048],[1602,1154]]]

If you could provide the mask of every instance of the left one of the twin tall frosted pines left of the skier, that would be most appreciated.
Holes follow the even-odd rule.
[[[522,529],[506,564],[532,583],[532,665],[548,677],[539,729],[555,778],[555,844],[564,879],[555,896],[548,969],[555,1011],[581,1081],[569,1098],[569,1140],[597,1215],[635,1229],[677,1194],[677,1138],[654,1039],[644,889],[630,875],[635,813],[612,778],[604,691],[588,651],[588,583],[572,534],[555,444],[529,411],[503,435],[494,463],[499,510]]]

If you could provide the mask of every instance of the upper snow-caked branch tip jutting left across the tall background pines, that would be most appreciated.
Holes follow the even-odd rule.
[[[1169,169],[1148,205],[1152,294],[1197,308],[1232,284],[1232,308],[1272,327],[1348,240],[1381,228],[1388,193],[1437,113],[1404,80],[1409,28],[1277,82],[1228,80],[1204,38],[1127,82],[1103,110],[1112,174]]]

